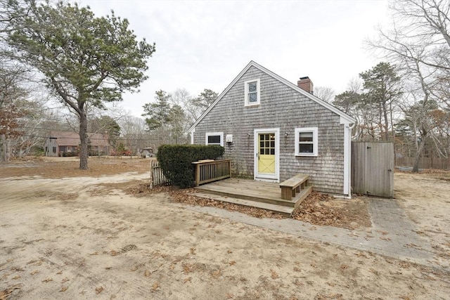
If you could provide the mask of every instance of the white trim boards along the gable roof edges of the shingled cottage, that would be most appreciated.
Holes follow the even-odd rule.
[[[208,114],[208,112],[210,112],[210,110],[212,110],[212,108],[221,100],[221,98],[223,98],[225,96],[225,94],[231,89],[231,87],[233,87],[234,84],[236,84],[236,82],[240,79],[240,77],[243,77],[243,74],[245,74],[245,72],[247,72],[248,69],[250,69],[250,67],[256,67],[258,70],[268,74],[269,76],[273,77],[274,79],[283,82],[283,84],[289,86],[291,89],[294,89],[295,91],[301,93],[302,95],[307,96],[309,99],[313,100],[314,102],[319,103],[319,105],[322,105],[323,107],[328,108],[328,110],[335,112],[335,114],[339,115],[342,119],[345,119],[349,124],[356,122],[356,119],[347,115],[345,112],[342,112],[342,110],[339,110],[337,107],[331,105],[330,103],[328,103],[324,100],[321,100],[321,98],[318,98],[318,97],[314,96],[313,94],[308,93],[307,91],[304,91],[303,89],[300,89],[300,87],[293,84],[292,82],[284,79],[283,77],[275,74],[274,72],[271,72],[270,70],[267,70],[262,65],[255,63],[253,60],[250,60],[250,63],[248,63],[248,65],[245,66],[242,71],[240,71],[238,76],[233,81],[231,81],[231,84],[229,84],[229,86],[227,86],[223,92],[221,92],[219,97],[217,97],[217,99],[212,103],[212,105],[210,105],[210,107],[208,107],[205,110],[205,112],[203,112],[203,114],[197,120],[195,120],[194,124],[192,124],[192,126],[188,129],[188,132],[191,132],[191,131],[193,131],[193,129],[195,129],[195,126],[197,126],[198,123],[200,123],[202,121],[202,119]]]

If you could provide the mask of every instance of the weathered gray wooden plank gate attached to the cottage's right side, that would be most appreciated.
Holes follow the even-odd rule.
[[[394,197],[394,142],[352,142],[352,192]]]

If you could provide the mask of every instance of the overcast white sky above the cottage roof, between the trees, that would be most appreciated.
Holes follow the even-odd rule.
[[[121,103],[132,115],[155,91],[224,91],[250,60],[297,83],[345,91],[350,79],[378,63],[364,39],[387,22],[385,0],[148,1],[81,0],[97,16],[113,9],[139,39],[156,43],[141,93]]]

